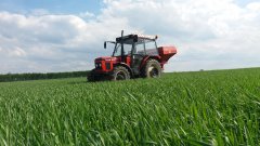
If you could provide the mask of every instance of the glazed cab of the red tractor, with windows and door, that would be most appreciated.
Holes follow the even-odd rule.
[[[140,74],[142,61],[147,55],[158,55],[157,36],[128,35],[116,38],[112,57],[130,66],[134,75]],[[148,51],[147,51],[148,50]]]

